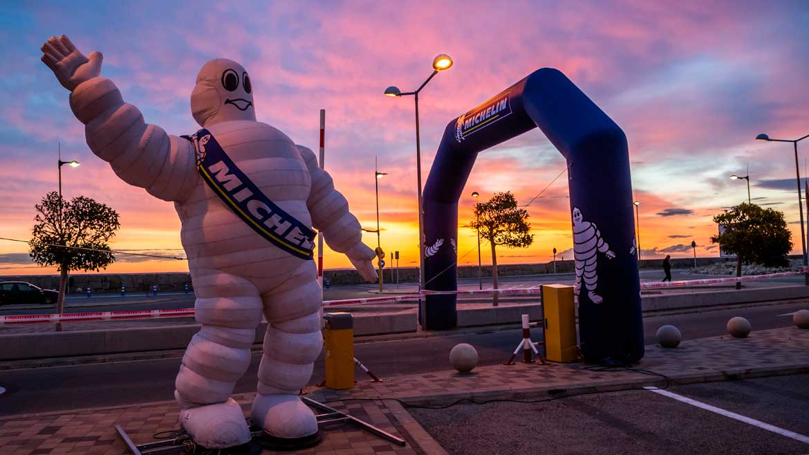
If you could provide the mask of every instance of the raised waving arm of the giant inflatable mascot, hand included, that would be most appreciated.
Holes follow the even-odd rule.
[[[129,185],[156,198],[182,202],[197,185],[191,142],[147,125],[138,108],[124,103],[109,79],[100,78],[103,56],[87,58],[67,36],[52,36],[42,46],[42,62],[70,90],[70,108],[85,126],[87,146]]]

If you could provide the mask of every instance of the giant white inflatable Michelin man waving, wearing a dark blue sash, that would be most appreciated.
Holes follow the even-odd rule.
[[[278,438],[315,434],[316,417],[298,397],[323,345],[310,227],[365,279],[377,279],[374,252],[331,176],[312,151],[256,121],[250,77],[239,63],[220,58],[202,66],[191,111],[203,129],[180,138],[144,123],[115,84],[99,77],[100,53],[87,58],[66,36],[50,38],[42,51],[70,90],[93,153],[123,181],[174,202],[180,215],[202,326],[176,378],[182,426],[210,449],[248,443],[231,393],[250,364],[263,315],[269,325],[251,420]]]

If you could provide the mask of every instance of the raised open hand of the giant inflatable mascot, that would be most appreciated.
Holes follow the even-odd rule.
[[[51,36],[42,45],[42,62],[47,65],[62,87],[73,91],[78,84],[97,78],[101,74],[101,62],[104,56],[100,52],[90,53],[90,57],[76,49],[67,36]]]

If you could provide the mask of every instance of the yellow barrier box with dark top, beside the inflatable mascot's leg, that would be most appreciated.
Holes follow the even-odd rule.
[[[351,313],[325,313],[326,387],[354,387],[354,318]]]

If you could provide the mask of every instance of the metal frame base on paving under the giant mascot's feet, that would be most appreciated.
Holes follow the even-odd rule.
[[[400,437],[393,436],[391,433],[385,432],[381,428],[375,427],[371,425],[371,423],[367,423],[364,420],[357,419],[353,415],[349,415],[346,414],[345,412],[336,410],[331,406],[326,406],[321,402],[316,402],[311,398],[301,397],[301,400],[303,400],[303,402],[307,406],[323,412],[323,414],[316,415],[318,427],[324,427],[325,425],[329,425],[332,423],[352,423],[357,427],[362,428],[362,430],[365,430],[366,432],[369,432],[372,435],[379,436],[383,440],[392,442],[393,444],[396,444],[400,447],[404,447],[407,445],[407,442],[405,442]],[[121,442],[124,443],[127,451],[131,455],[163,455],[164,453],[180,453],[183,451],[187,453],[194,453],[195,449],[201,448],[201,446],[198,446],[191,439],[191,437],[185,433],[184,430],[180,430],[180,435],[173,438],[156,440],[155,442],[148,442],[146,444],[138,445],[133,443],[132,439],[129,438],[129,435],[126,434],[124,428],[121,427],[121,425],[116,423],[113,427],[115,428],[118,437],[121,438]],[[269,436],[263,429],[261,428],[253,429],[253,428],[251,428],[250,436],[252,436],[254,440],[263,438],[265,436]],[[316,434],[320,434],[320,432]],[[311,444],[309,445],[309,447],[311,447]],[[221,454],[225,455],[226,453],[254,453],[253,452],[254,449],[255,448],[252,446],[251,447],[239,446],[238,448],[233,449],[221,449],[222,451]],[[294,449],[301,449],[301,448],[297,447]],[[231,452],[229,452],[228,450],[231,450]]]

